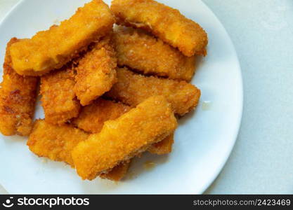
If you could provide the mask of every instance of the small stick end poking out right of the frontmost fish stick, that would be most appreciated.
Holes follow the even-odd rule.
[[[174,134],[169,135],[167,138],[162,141],[152,144],[148,151],[152,154],[164,155],[171,153],[172,145],[174,143]]]

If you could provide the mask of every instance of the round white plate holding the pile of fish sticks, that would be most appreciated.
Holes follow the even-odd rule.
[[[27,38],[69,18],[86,0],[24,0],[0,25],[2,63],[13,36]],[[110,1],[106,1],[110,3]],[[199,22],[209,36],[208,55],[199,59],[192,83],[202,97],[196,111],[179,120],[170,155],[136,158],[120,182],[82,181],[62,162],[45,162],[26,146],[26,138],[0,136],[0,183],[9,193],[203,193],[221,171],[237,138],[242,116],[242,77],[235,49],[225,29],[202,1],[165,0]],[[202,103],[210,101],[208,110]],[[43,116],[38,104],[37,118]],[[146,161],[154,169],[144,168]]]

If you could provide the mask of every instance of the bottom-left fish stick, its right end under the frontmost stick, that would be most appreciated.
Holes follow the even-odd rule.
[[[36,120],[27,146],[39,157],[64,161],[74,167],[71,151],[89,134],[70,125],[52,125],[45,120]]]

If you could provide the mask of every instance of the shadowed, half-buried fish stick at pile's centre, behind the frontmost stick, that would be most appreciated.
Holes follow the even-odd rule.
[[[98,98],[92,104],[82,107],[78,118],[74,118],[72,124],[95,134],[102,130],[105,121],[115,120],[130,109],[130,106]]]

